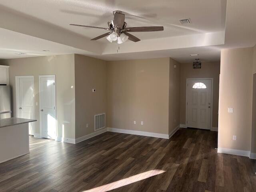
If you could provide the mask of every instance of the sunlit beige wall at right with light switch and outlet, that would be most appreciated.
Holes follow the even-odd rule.
[[[252,60],[253,48],[221,51],[219,148],[251,148]],[[234,108],[234,113],[228,113],[228,107]]]

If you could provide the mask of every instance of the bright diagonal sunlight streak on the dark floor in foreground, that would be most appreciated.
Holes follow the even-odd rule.
[[[150,171],[143,172],[143,173],[140,173],[140,174],[137,174],[137,175],[134,175],[134,176],[130,176],[128,178],[125,178],[125,179],[122,179],[122,180],[119,180],[119,181],[115,181],[115,182],[112,182],[112,183],[109,183],[109,184],[106,184],[106,185],[102,185],[102,186],[99,186],[99,187],[96,187],[96,188],[93,188],[93,189],[89,189],[89,190],[86,190],[86,191],[83,191],[83,192],[106,192],[106,191],[110,191],[110,190],[113,190],[113,189],[116,189],[116,188],[120,188],[122,186],[126,186],[126,185],[129,185],[129,184],[132,184],[132,183],[150,178],[152,176],[162,174],[164,172],[166,172],[166,171],[158,170],[158,169],[150,170]]]

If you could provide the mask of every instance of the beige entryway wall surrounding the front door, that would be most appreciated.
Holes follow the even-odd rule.
[[[186,79],[213,78],[212,126],[218,127],[219,62],[202,62],[201,69],[193,69],[192,63],[180,66],[180,124],[186,124]]]

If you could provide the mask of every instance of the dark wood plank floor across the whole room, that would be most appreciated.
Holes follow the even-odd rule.
[[[30,154],[0,164],[1,192],[255,192],[255,160],[218,154],[217,133],[170,140],[106,132],[79,144],[30,137]]]

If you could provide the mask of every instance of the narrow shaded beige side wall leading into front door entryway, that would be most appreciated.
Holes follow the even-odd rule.
[[[176,65],[176,68],[174,68]],[[169,134],[180,125],[180,63],[170,58],[169,69]]]

